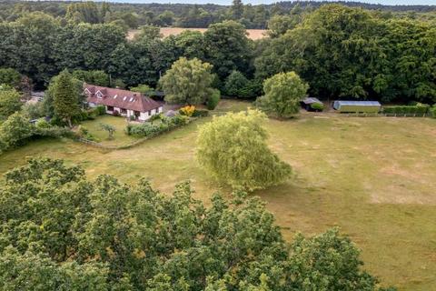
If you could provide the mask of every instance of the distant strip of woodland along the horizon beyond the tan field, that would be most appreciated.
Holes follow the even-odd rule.
[[[5,1],[0,3],[0,20],[15,21],[21,15],[40,11],[70,22],[110,23],[136,28],[140,25],[177,25],[182,27],[207,27],[224,20],[237,20],[246,28],[266,28],[274,15],[288,15],[297,8],[311,12],[327,1],[289,1],[272,5],[243,5],[235,0],[233,5],[189,5],[189,4],[121,4],[93,2],[56,2],[56,1]],[[356,2],[336,2],[351,7],[362,7],[386,14],[408,17],[416,13],[429,13],[433,19],[434,5],[372,5]]]

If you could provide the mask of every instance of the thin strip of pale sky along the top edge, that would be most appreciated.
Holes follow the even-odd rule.
[[[107,1],[107,0],[106,0]],[[109,0],[110,2],[124,3],[189,3],[189,4],[206,4],[213,3],[217,5],[230,5],[232,0]],[[284,1],[284,0],[283,0]],[[329,0],[327,0],[329,1]],[[362,0],[350,2],[364,2],[382,5],[436,5],[436,0]],[[277,0],[243,0],[243,4],[272,4]]]

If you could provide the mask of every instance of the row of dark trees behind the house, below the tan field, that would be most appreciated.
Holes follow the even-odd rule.
[[[15,68],[40,87],[64,68],[103,70],[125,85],[156,85],[181,56],[211,63],[213,73],[222,79],[234,69],[253,75],[253,42],[243,25],[233,21],[213,25],[204,35],[186,32],[167,38],[158,28],[144,26],[141,34],[127,41],[119,25],[61,25],[52,16],[35,12],[1,23],[0,34],[4,36],[0,66]]]

